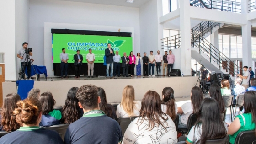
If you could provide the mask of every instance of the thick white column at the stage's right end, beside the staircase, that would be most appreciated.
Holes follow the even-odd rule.
[[[189,0],[180,0],[181,29],[181,73],[191,75],[191,40],[190,40],[190,5]],[[176,56],[177,57],[177,56]]]

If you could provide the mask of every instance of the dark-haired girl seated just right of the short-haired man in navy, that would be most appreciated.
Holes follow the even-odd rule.
[[[100,110],[105,112],[108,117],[117,119],[116,110],[111,104],[107,103],[106,93],[101,87],[98,88],[98,96],[101,98],[101,103],[99,104]]]

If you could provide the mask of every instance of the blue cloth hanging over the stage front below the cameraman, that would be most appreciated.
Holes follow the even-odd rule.
[[[34,80],[17,80],[16,85],[18,86],[18,94],[21,96],[21,100],[27,98],[28,92],[34,88]]]

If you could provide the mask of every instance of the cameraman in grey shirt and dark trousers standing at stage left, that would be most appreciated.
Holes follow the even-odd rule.
[[[21,77],[22,79],[25,79],[25,69],[27,67],[27,79],[31,80],[30,78],[30,70],[31,70],[31,63],[30,63],[30,60],[29,59],[26,59],[27,57],[27,53],[32,56],[33,53],[31,53],[29,51],[29,49],[27,48],[27,42],[24,42],[22,44],[22,47],[19,51],[18,51],[18,54],[17,54],[17,57],[21,59]],[[27,53],[26,53],[27,51]],[[26,59],[26,61],[25,61]]]

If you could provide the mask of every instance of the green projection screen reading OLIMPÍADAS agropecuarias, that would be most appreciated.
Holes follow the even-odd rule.
[[[119,51],[119,55],[123,56],[123,52],[127,54],[133,50],[132,37],[116,37],[116,36],[98,36],[98,35],[79,35],[79,34],[54,34],[52,39],[53,63],[60,63],[61,49],[65,48],[69,56],[69,63],[74,61],[73,56],[76,50],[80,50],[86,62],[86,54],[91,48],[92,53],[95,54],[95,63],[103,63],[105,49],[107,43],[111,44],[111,48]]]

